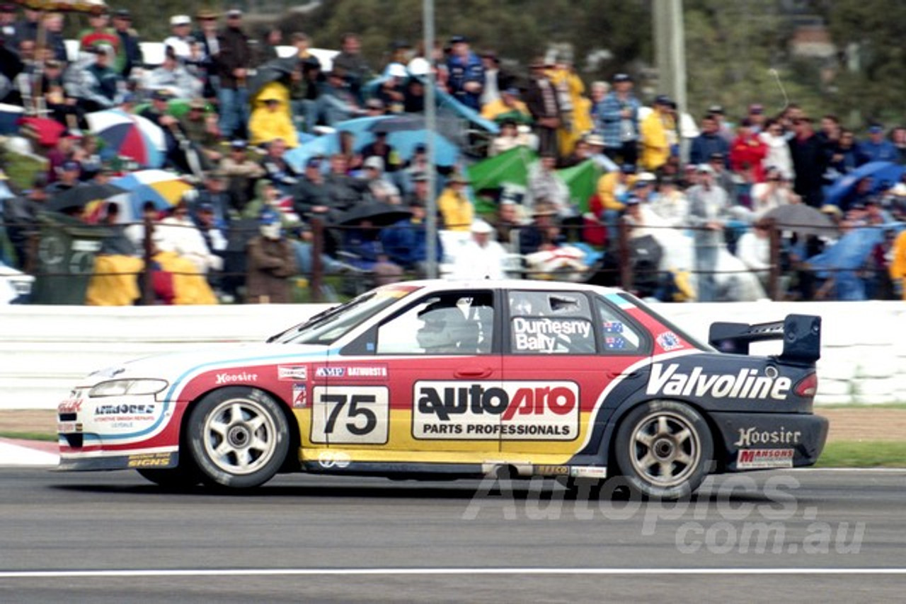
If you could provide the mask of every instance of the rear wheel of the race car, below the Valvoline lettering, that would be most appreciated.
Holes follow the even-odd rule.
[[[633,408],[617,431],[614,460],[631,490],[644,497],[688,496],[708,475],[708,424],[682,403],[654,400]]]

